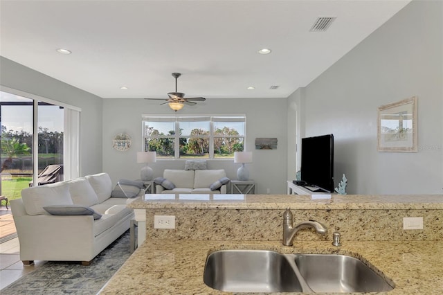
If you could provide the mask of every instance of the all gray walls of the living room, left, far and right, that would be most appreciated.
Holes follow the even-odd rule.
[[[300,138],[334,133],[336,184],[347,175],[348,193],[442,193],[443,74],[440,1],[413,1],[327,71],[286,99],[207,100],[180,114],[246,114],[248,164],[257,192],[284,193],[295,178]],[[81,173],[109,172],[114,181],[136,179],[141,164],[141,115],[172,114],[167,106],[137,99],[102,100],[47,75],[0,57],[0,84],[82,108]],[[418,96],[419,152],[377,152],[377,107]],[[128,152],[112,138],[126,132]],[[254,149],[255,137],[277,137],[278,149]],[[156,176],[183,161],[152,164]],[[210,161],[235,179],[238,164]]]

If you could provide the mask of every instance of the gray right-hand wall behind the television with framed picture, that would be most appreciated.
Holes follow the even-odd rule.
[[[305,87],[305,135],[334,134],[348,193],[442,193],[442,15],[440,1],[409,3]],[[377,152],[377,107],[411,96],[419,151]]]

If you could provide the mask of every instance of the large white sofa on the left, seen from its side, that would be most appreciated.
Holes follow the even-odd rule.
[[[10,202],[20,260],[25,265],[33,260],[82,261],[89,265],[129,229],[135,217],[134,210],[126,206],[134,199],[110,197],[112,190],[107,173],[22,190],[21,199]],[[143,193],[141,189],[137,196]],[[51,215],[43,208],[51,205],[82,205],[102,217],[94,220],[93,215]]]

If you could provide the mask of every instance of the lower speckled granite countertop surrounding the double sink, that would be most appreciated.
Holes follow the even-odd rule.
[[[443,242],[280,242],[147,240],[100,294],[221,294],[203,282],[206,256],[218,249],[270,249],[280,253],[343,253],[368,262],[395,286],[380,294],[441,294]],[[374,293],[372,293],[374,294]]]

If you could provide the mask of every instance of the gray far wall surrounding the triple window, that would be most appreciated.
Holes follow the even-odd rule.
[[[166,95],[166,93],[165,93]],[[168,105],[161,101],[143,99],[103,100],[103,170],[109,172],[114,183],[118,179],[140,178],[143,164],[136,163],[136,152],[142,150],[142,114],[173,116]],[[250,179],[256,181],[255,193],[271,194],[286,192],[287,171],[287,100],[265,99],[208,99],[195,107],[184,107],[179,115],[233,115],[246,114],[246,150],[253,152],[253,163],[246,164]],[[132,138],[132,148],[118,152],[112,147],[112,139],[118,133]],[[255,150],[256,137],[278,138],[277,150]],[[150,164],[154,177],[163,175],[165,168],[183,169],[182,160],[159,160]],[[233,160],[208,160],[208,168],[225,169],[230,179],[237,178],[239,164]]]

